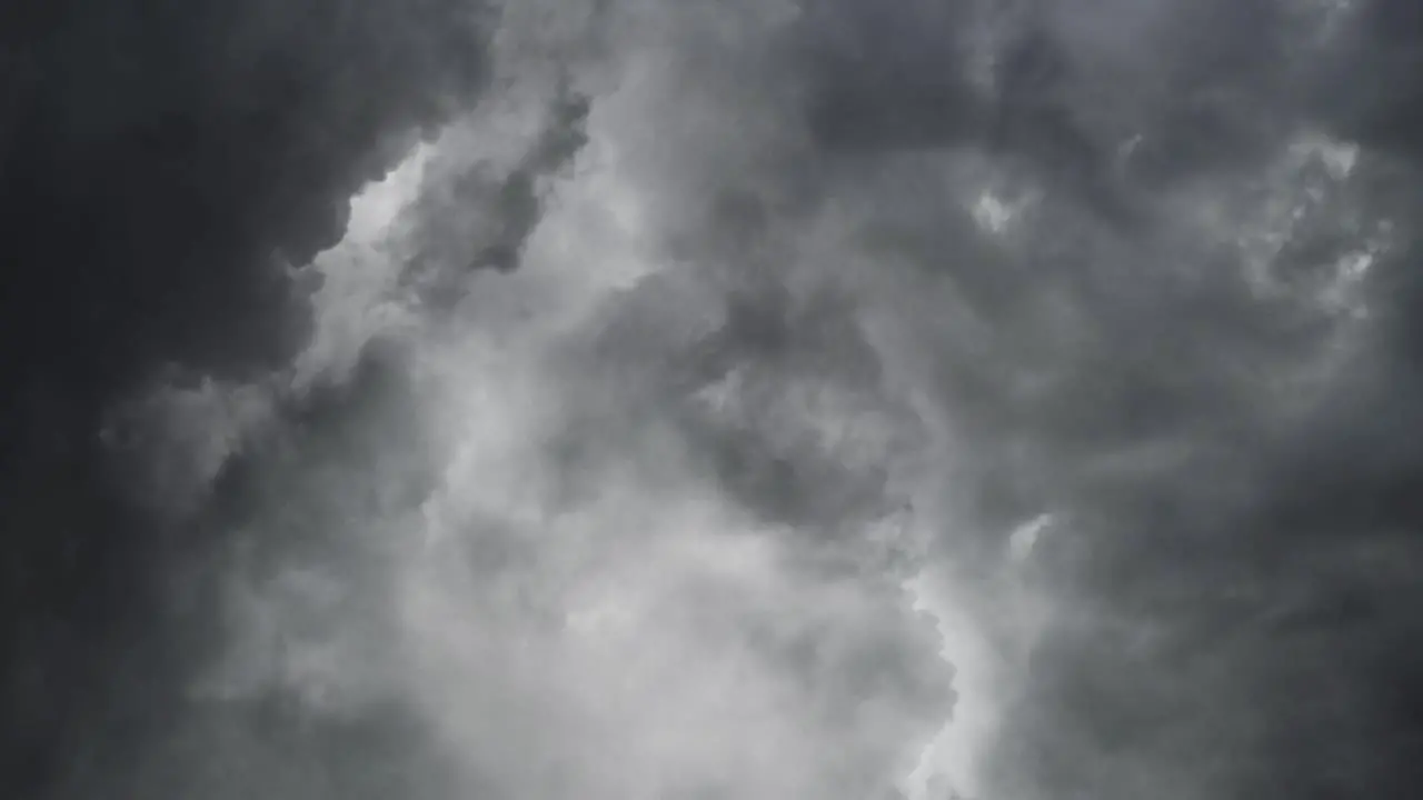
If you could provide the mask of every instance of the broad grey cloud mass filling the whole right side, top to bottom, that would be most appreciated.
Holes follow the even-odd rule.
[[[1047,98],[966,94],[969,81],[942,78],[951,58],[932,85],[867,68],[822,90],[877,104],[840,120],[852,137],[822,141],[854,138],[855,158],[905,165],[844,191],[868,198],[877,252],[926,270],[906,300],[924,317],[909,325],[922,326],[924,363],[966,448],[945,491],[961,530],[989,535],[958,532],[943,551],[989,569],[998,532],[1056,520],[1035,555],[1056,616],[985,794],[1407,793],[1423,544],[1419,165],[1403,155],[1416,108],[1400,65],[1416,16],[1368,4],[1321,46],[1318,20],[1285,4],[1147,3],[1126,19],[1064,6],[1079,16],[1007,37],[1062,54]],[[933,38],[906,31],[885,40],[881,63]],[[1348,53],[1315,61],[1331,48]],[[1066,127],[1042,141],[975,128],[1015,102]],[[1117,140],[1091,127],[1113,114],[1126,122]],[[933,125],[942,132],[925,134]],[[1311,128],[1360,137],[1342,186],[1321,178],[1326,157],[1289,167]],[[1062,177],[1057,148],[1072,137],[1099,152],[1140,137],[1114,191],[1151,209],[1148,235],[1090,201],[1083,214],[1110,159]],[[952,155],[932,151],[1002,154],[1005,141],[1046,195],[1016,222],[1010,252],[975,252],[972,223],[946,222],[963,218],[936,161]],[[894,155],[905,151],[918,155]],[[1227,239],[1192,221],[1202,196],[1225,204]],[[1281,232],[1272,206],[1303,222]],[[1393,245],[1353,289],[1366,319],[1326,307],[1331,275],[1380,225]],[[1271,226],[1286,243],[1262,266],[1248,239]]]

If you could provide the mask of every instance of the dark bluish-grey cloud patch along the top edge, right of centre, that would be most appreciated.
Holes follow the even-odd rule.
[[[1121,226],[1262,158],[1319,80],[1318,23],[1269,0],[815,10],[801,38],[821,147],[985,151]]]

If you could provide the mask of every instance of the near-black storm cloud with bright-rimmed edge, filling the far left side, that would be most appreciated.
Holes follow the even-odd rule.
[[[283,265],[484,68],[471,3],[50,3],[0,68],[6,790],[43,796],[158,725],[171,555],[107,474],[105,410],[168,364],[299,344]]]

